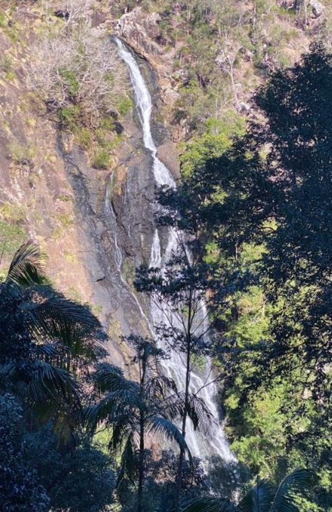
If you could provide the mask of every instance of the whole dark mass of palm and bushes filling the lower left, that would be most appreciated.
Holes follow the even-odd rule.
[[[45,255],[26,242],[0,283],[0,387],[15,395],[0,397],[1,506],[98,512],[113,503],[112,461],[80,423],[105,335],[89,309],[44,283]]]

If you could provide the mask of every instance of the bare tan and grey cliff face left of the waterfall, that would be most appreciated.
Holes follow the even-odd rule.
[[[33,39],[37,16],[25,7],[19,15],[22,27],[30,16],[28,37]],[[129,25],[124,22],[123,27]],[[118,126],[122,143],[114,166],[92,168],[73,137],[59,131],[46,105],[27,93],[28,47],[15,48],[15,77],[0,80],[0,243],[8,248],[2,263],[12,255],[10,229],[17,235],[16,246],[26,237],[39,241],[49,256],[52,282],[67,296],[91,305],[112,339],[113,360],[121,364],[127,354],[121,336],[148,333],[148,305],[135,293],[133,280],[135,267],[149,261],[154,232],[151,156],[134,110]],[[0,31],[0,50],[12,49]],[[145,59],[139,60],[157,113],[157,74]],[[176,176],[176,159],[167,156],[175,155],[175,148],[158,116],[153,132],[161,144],[160,158]]]

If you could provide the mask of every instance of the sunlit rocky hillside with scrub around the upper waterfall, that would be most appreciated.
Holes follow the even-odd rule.
[[[113,336],[137,322],[145,332],[131,284],[135,266],[149,259],[154,185],[127,71],[109,35],[122,37],[141,59],[158,153],[176,176],[174,143],[190,170],[202,137],[220,136],[223,146],[244,129],[242,119],[254,115],[250,97],[269,71],[294,62],[313,39],[330,44],[330,8],[327,1],[277,0],[2,2],[3,261],[21,240],[35,238],[49,254],[54,283],[91,304]],[[83,86],[68,73],[63,98],[56,96],[48,73],[57,65],[61,74],[61,61],[69,58],[71,26],[83,42],[106,41],[102,58],[113,59],[107,73],[122,82],[119,88],[120,80],[110,78],[107,104],[90,105],[90,93],[80,97],[75,88]],[[123,254],[125,300],[115,243]]]

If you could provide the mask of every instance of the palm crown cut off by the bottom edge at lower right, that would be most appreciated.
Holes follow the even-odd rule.
[[[182,512],[298,512],[298,498],[308,493],[314,476],[308,470],[295,470],[275,488],[267,480],[257,484],[238,503],[222,497],[195,498],[182,504]]]

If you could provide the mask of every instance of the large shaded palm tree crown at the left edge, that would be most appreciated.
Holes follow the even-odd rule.
[[[104,354],[105,335],[86,306],[46,284],[45,262],[25,242],[0,283],[0,386],[64,435],[80,409],[77,376]]]

